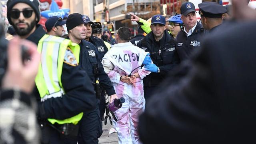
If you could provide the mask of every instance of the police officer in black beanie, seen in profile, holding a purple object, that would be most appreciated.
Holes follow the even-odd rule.
[[[90,81],[84,81],[84,83],[95,84],[96,78],[99,78],[100,84],[104,90],[106,90],[107,94],[110,95],[110,102],[112,102],[117,96],[108,75],[104,72],[98,50],[96,50],[96,47],[92,43],[84,40],[86,38],[87,18],[88,17],[78,13],[73,13],[68,16],[66,22],[68,38],[80,46],[80,65],[90,77]],[[98,99],[100,98],[98,97]],[[79,144],[98,144],[98,138],[102,134],[102,122],[98,107],[99,101],[100,100],[97,101],[97,106],[94,110],[83,115],[80,122]]]

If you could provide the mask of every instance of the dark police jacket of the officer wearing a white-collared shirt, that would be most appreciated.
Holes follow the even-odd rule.
[[[195,49],[200,48],[203,36],[204,29],[199,22],[197,22],[196,28],[190,36],[187,36],[184,32],[184,28],[180,30],[176,37],[176,51],[180,61],[188,59]]]

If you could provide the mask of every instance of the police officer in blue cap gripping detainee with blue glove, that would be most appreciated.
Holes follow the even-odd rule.
[[[147,100],[156,86],[179,63],[175,49],[175,41],[166,30],[164,16],[155,15],[151,19],[151,32],[138,43],[138,47],[150,52],[154,64],[147,64],[146,70],[151,71],[144,83],[144,96]]]

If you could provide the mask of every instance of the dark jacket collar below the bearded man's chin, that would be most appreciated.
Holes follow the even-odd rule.
[[[27,40],[30,40],[31,42],[34,42],[36,45],[38,45],[39,40],[46,34],[43,27],[38,24],[36,26],[36,30],[26,38]]]

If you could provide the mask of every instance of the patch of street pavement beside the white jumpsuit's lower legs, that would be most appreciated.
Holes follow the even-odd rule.
[[[113,125],[110,125],[108,120],[107,125],[105,126],[104,121],[102,121],[103,134],[99,138],[99,144],[118,144],[117,133],[109,134],[110,128],[113,128]]]

